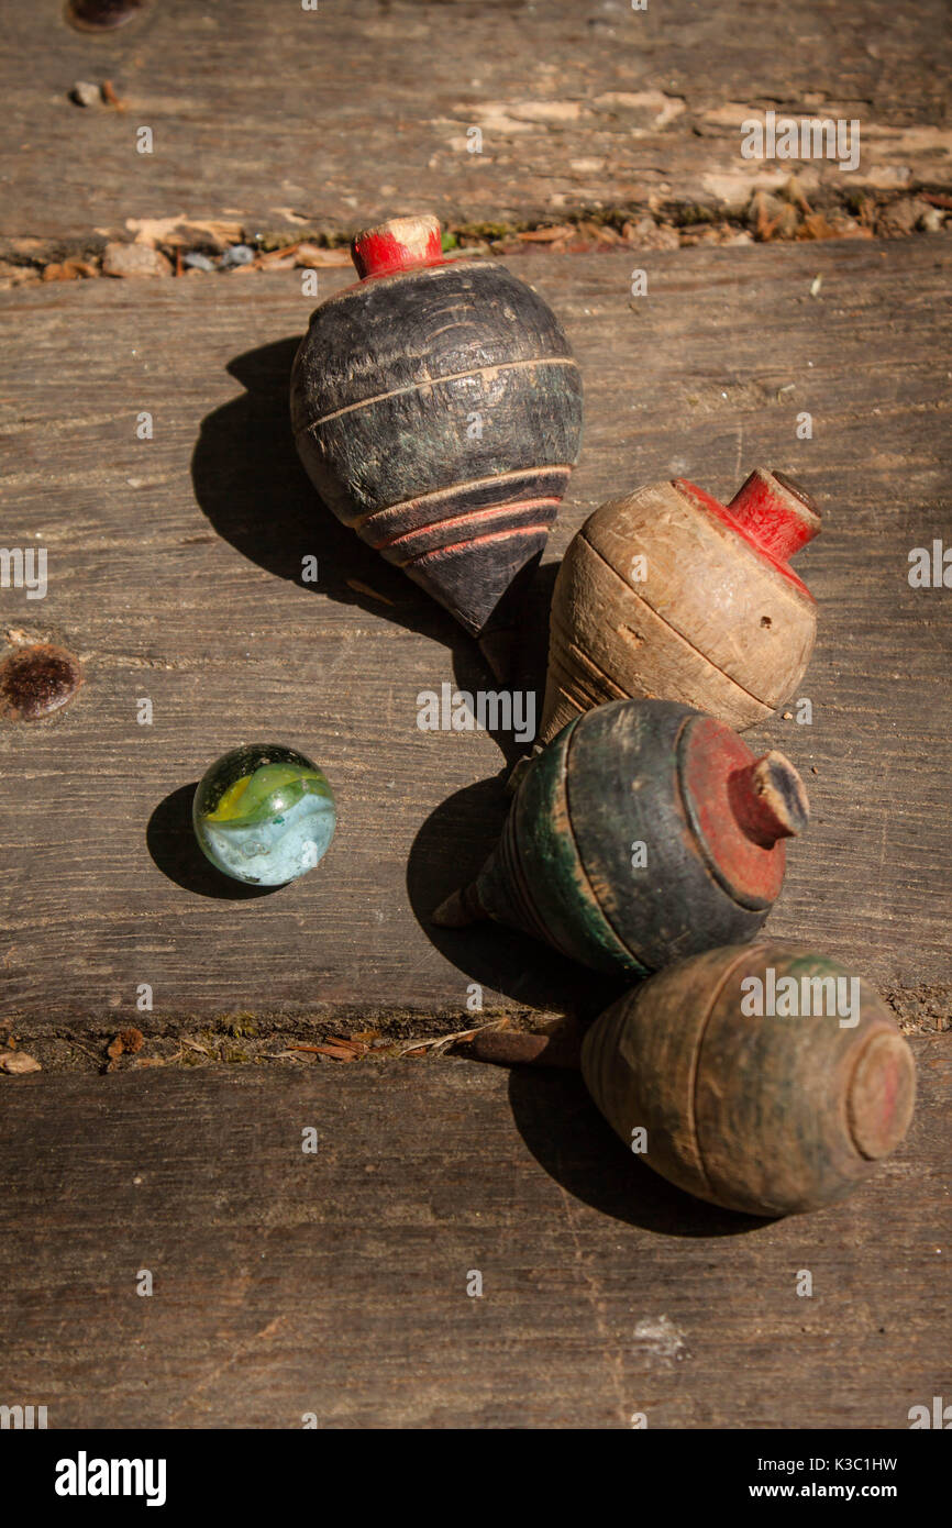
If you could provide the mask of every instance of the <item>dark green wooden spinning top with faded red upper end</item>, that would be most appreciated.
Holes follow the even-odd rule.
[[[524,766],[497,848],[432,917],[495,918],[596,970],[643,976],[752,940],[807,814],[782,753],[755,758],[689,706],[614,701]]]

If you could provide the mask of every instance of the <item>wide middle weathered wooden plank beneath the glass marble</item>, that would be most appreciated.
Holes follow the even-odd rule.
[[[825,530],[798,559],[821,604],[801,692],[813,721],[749,733],[790,755],[813,802],[769,927],[903,989],[903,1013],[918,998],[935,1013],[949,596],[909,587],[908,553],[952,539],[949,241],[642,263],[643,298],[627,255],[518,263],[565,321],[587,388],[553,556],[604,498],[675,474],[724,500],[766,463],[818,497]],[[321,290],[344,280],[322,274]],[[498,831],[504,755],[486,733],[419,730],[422,691],[486,688],[486,671],[448,614],[319,510],[296,463],[286,388],[309,306],[290,272],[0,298],[3,541],[49,550],[46,599],[0,590],[2,626],[86,665],[58,717],[0,724],[0,1013],[21,1033],[240,1013],[458,1027],[471,983],[486,1010],[587,992],[515,934],[426,921]],[[136,437],[142,411],[151,440]],[[306,555],[316,587],[301,584]],[[151,726],[136,721],[144,697]],[[316,758],[339,828],[316,872],[228,900],[191,843],[189,787],[252,738]],[[136,1013],[139,984],[151,1013]]]

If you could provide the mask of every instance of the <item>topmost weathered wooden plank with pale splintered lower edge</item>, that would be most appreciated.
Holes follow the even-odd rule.
[[[767,108],[860,122],[859,167],[805,160],[808,193],[941,188],[944,23],[941,0],[159,0],[89,37],[61,0],[8,6],[0,234],[69,240],[177,214],[252,234],[413,211],[500,223],[740,206],[792,168],[741,157],[741,122]],[[124,112],[70,102],[75,81],[102,78]]]

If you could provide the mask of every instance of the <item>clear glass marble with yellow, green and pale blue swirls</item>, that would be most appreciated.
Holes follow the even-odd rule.
[[[249,886],[283,886],[313,869],[338,821],[324,770],[277,743],[215,759],[199,781],[191,814],[212,865]]]

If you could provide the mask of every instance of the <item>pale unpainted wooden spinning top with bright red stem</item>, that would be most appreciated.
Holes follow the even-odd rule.
[[[787,558],[819,529],[813,500],[761,468],[727,506],[674,478],[596,509],[552,596],[541,741],[622,695],[741,732],[769,717],[813,651],[816,605]]]

